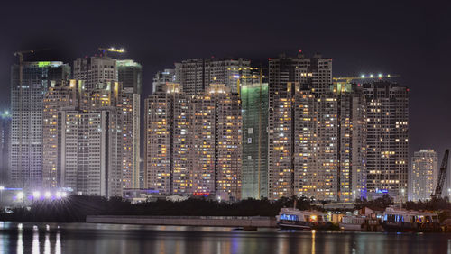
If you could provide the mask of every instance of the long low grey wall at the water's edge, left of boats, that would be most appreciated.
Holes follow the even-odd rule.
[[[87,215],[88,223],[177,225],[202,227],[276,228],[274,217],[267,216],[112,216]]]

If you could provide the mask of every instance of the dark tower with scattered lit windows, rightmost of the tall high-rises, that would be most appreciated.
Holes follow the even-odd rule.
[[[364,84],[368,195],[407,195],[409,89],[390,82]],[[404,199],[405,200],[405,199]]]

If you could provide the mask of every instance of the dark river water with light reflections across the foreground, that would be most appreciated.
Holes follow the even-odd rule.
[[[0,253],[451,254],[451,234],[0,222]]]

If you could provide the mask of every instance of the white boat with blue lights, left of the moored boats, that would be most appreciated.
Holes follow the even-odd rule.
[[[317,211],[300,211],[296,208],[282,208],[276,216],[277,224],[284,229],[311,230],[329,226],[327,216]]]

